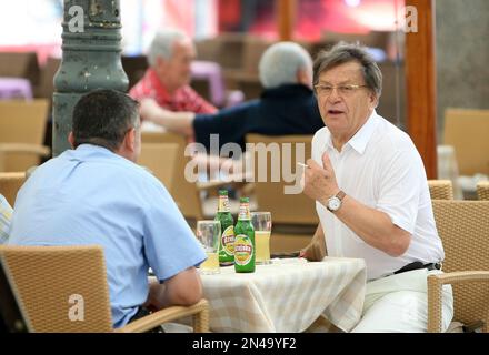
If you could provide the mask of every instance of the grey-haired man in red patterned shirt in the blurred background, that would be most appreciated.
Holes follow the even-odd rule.
[[[190,64],[194,58],[196,47],[183,32],[158,32],[148,51],[150,68],[129,94],[138,101],[152,99],[170,111],[216,112],[212,104],[189,87]]]

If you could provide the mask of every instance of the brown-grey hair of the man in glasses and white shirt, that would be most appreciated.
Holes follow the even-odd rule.
[[[335,67],[348,62],[358,62],[362,67],[366,85],[380,98],[382,93],[382,72],[367,48],[360,44],[339,42],[329,51],[322,50],[315,60],[315,75],[312,82],[319,83],[319,75]]]

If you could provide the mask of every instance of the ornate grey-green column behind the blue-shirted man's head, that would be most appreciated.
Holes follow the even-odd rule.
[[[62,61],[54,75],[52,153],[70,149],[74,104],[93,89],[126,92],[119,0],[64,0]]]

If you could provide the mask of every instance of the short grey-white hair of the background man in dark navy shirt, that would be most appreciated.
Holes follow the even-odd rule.
[[[265,51],[258,68],[263,88],[272,89],[297,83],[297,72],[300,69],[312,73],[312,59],[299,44],[279,42]]]

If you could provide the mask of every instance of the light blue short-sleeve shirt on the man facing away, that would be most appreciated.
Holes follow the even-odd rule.
[[[206,254],[171,195],[143,168],[82,144],[39,166],[19,191],[10,244],[102,245],[112,321],[148,297],[148,268],[164,281]]]

